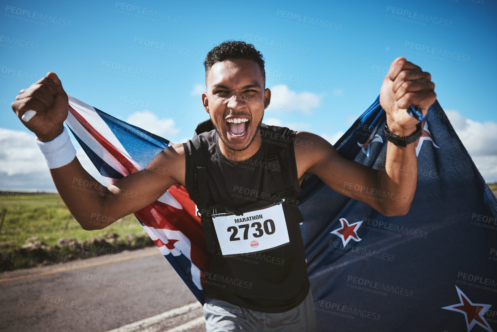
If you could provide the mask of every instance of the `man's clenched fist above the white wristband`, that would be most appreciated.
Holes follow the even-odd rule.
[[[11,107],[19,119],[26,111],[36,111],[29,121],[21,122],[40,141],[48,142],[62,133],[68,105],[69,100],[61,81],[55,73],[49,72],[29,88],[22,89]]]

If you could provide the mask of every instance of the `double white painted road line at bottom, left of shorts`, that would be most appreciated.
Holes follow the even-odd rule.
[[[156,315],[156,316],[152,316],[152,317],[149,317],[149,318],[146,318],[144,320],[141,320],[141,321],[137,321],[137,322],[133,322],[131,324],[128,324],[128,325],[124,325],[120,328],[117,328],[117,329],[114,329],[114,330],[109,330],[107,332],[137,332],[137,331],[140,331],[140,332],[156,332],[156,331],[160,331],[161,329],[157,330],[157,327],[154,328],[153,325],[155,324],[158,324],[158,323],[161,323],[163,322],[164,320],[168,319],[168,318],[172,318],[174,316],[178,316],[178,315],[182,315],[182,314],[185,314],[191,310],[194,310],[194,309],[198,309],[198,308],[202,308],[202,305],[200,304],[200,302],[198,301],[195,301],[193,303],[190,303],[190,304],[187,304],[186,306],[182,306],[182,307],[179,307],[179,308],[175,308],[175,309],[172,309],[172,310],[169,310],[169,311],[166,311],[162,314],[159,314],[159,315]],[[177,329],[181,326],[184,326],[186,324],[189,324],[189,323],[192,323],[192,322],[195,322],[197,320],[200,320],[200,318],[203,320],[204,317],[199,317],[197,319],[194,319],[193,321],[190,321],[188,323],[185,323],[185,324],[182,324],[174,329]],[[199,323],[197,323],[197,325],[199,325]],[[195,326],[195,325],[193,325]],[[147,329],[148,328],[148,329]],[[168,330],[168,331],[176,331],[176,330]],[[183,331],[183,330],[177,330],[177,331]]]

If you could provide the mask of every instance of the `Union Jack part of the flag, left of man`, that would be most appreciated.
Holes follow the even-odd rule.
[[[144,169],[170,142],[69,96],[66,123],[107,183]],[[210,253],[195,204],[183,186],[172,186],[135,216],[159,250],[204,303],[203,271],[209,271]]]

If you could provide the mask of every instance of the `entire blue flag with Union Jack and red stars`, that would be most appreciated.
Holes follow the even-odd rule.
[[[67,125],[109,184],[170,145],[72,96],[69,110]],[[377,98],[335,144],[338,152],[385,167],[385,121]],[[316,176],[306,178],[299,208],[319,331],[497,332],[496,198],[438,102],[422,127],[413,143],[417,172],[389,165],[417,177],[406,216],[385,217],[343,195],[408,199],[396,193],[348,179],[335,192]],[[169,188],[135,215],[203,303],[210,253],[184,188]]]

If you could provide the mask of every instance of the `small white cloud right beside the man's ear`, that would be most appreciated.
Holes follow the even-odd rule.
[[[286,85],[278,84],[271,88],[271,104],[269,107],[276,110],[300,110],[304,114],[312,114],[313,110],[321,106],[325,94],[316,95],[311,92],[296,93]]]

